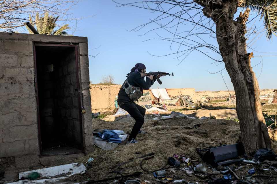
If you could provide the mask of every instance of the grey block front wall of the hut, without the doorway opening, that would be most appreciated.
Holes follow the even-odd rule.
[[[39,154],[33,42],[79,44],[81,103],[87,110],[82,114],[83,143],[85,151],[91,151],[93,128],[87,38],[0,33],[0,158],[23,155],[33,157]],[[28,167],[27,165],[28,163],[25,166]]]

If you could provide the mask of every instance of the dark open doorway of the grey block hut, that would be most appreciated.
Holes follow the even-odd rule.
[[[83,150],[77,46],[35,44],[41,155]]]

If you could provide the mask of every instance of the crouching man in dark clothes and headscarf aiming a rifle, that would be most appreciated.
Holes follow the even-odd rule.
[[[126,110],[136,121],[130,133],[126,144],[137,143],[136,135],[140,133],[140,129],[144,123],[145,108],[135,104],[143,94],[143,89],[148,90],[157,80],[160,84],[160,76],[171,75],[165,72],[149,72],[146,73],[146,67],[142,63],[137,63],[124,81],[118,93],[118,105]],[[173,73],[172,73],[173,75]],[[146,80],[144,80],[146,77]]]

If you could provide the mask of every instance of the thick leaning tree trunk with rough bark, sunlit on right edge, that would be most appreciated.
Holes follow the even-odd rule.
[[[246,150],[253,151],[270,148],[271,140],[261,110],[259,84],[250,65],[253,53],[246,52],[244,34],[249,12],[241,13],[237,21],[227,14],[215,22],[219,50],[236,93],[241,140]]]

